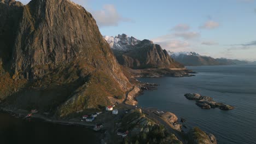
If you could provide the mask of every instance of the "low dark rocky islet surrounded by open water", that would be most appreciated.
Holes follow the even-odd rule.
[[[208,96],[202,96],[198,93],[186,93],[184,96],[188,100],[196,100],[196,105],[201,107],[201,109],[214,109],[219,108],[220,110],[232,110],[235,107],[224,104],[224,103],[217,103],[213,100],[213,98]]]

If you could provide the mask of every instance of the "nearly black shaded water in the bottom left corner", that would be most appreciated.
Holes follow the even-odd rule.
[[[100,139],[88,128],[27,122],[0,112],[0,143],[100,143]]]

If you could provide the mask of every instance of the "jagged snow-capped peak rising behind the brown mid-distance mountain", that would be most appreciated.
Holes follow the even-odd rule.
[[[141,43],[141,40],[138,40],[134,37],[128,37],[126,34],[118,34],[115,37],[103,36],[104,39],[108,42],[111,49],[127,51],[131,49],[131,46]]]

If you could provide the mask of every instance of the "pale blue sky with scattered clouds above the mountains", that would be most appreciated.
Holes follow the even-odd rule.
[[[125,33],[173,52],[256,61],[256,0],[72,1],[94,16],[102,35]]]

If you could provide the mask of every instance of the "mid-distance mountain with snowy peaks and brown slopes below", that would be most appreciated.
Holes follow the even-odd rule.
[[[174,62],[166,50],[150,40],[138,40],[126,34],[119,34],[116,37],[104,36],[104,38],[111,46],[118,62],[126,67],[132,69],[184,67]]]

